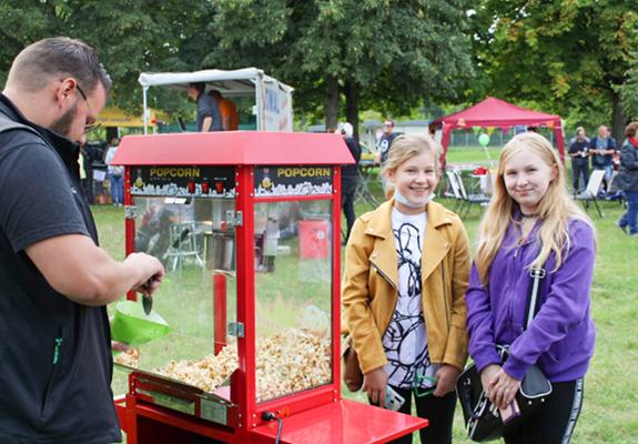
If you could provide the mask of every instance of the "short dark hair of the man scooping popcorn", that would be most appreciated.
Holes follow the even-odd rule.
[[[24,48],[13,60],[7,83],[39,91],[55,77],[72,77],[87,92],[94,91],[98,82],[107,93],[112,85],[95,50],[68,37],[42,39]]]

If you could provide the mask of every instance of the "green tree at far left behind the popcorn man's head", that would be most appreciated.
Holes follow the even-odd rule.
[[[0,0],[0,77],[27,44],[68,36],[91,44],[113,78],[110,102],[141,111],[141,71],[199,68],[196,36],[211,21],[209,2],[186,0]],[[20,26],[16,26],[20,23]],[[154,107],[180,109],[183,94],[158,91]]]

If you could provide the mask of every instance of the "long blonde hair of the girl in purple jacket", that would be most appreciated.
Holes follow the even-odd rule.
[[[526,150],[536,154],[543,162],[551,168],[556,176],[538,204],[538,215],[543,225],[538,236],[541,249],[530,266],[541,266],[549,254],[556,255],[556,269],[563,263],[563,254],[570,246],[568,221],[579,219],[594,224],[587,214],[576,204],[567,193],[565,169],[551,143],[543,135],[525,132],[512,139],[500,151],[498,169],[494,182],[494,195],[478,225],[478,242],[475,263],[480,281],[487,285],[489,266],[502,248],[507,226],[514,221],[514,211],[519,209],[518,203],[507,193],[504,181],[505,165],[516,153]]]

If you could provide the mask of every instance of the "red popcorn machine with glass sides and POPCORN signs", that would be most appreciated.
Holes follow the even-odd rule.
[[[173,327],[117,360],[129,444],[383,443],[427,425],[341,396],[338,165],[352,161],[337,134],[122,140],[126,253],[164,263],[153,307]]]

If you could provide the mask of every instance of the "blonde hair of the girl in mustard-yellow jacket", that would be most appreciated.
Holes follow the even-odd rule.
[[[388,172],[396,172],[403,162],[423,153],[431,153],[434,159],[436,179],[438,180],[440,178],[439,152],[440,145],[429,134],[402,134],[392,142],[389,153],[382,167],[381,173],[387,176]],[[393,194],[394,185],[388,182],[385,196],[389,199]]]

